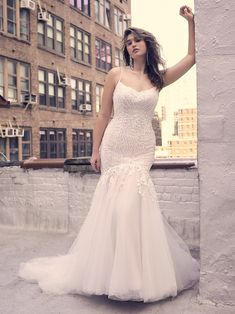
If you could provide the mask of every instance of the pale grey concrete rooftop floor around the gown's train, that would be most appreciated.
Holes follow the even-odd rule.
[[[0,314],[232,314],[230,307],[199,302],[198,287],[154,303],[115,301],[106,296],[42,293],[17,277],[19,264],[33,257],[64,254],[74,235],[0,229]]]

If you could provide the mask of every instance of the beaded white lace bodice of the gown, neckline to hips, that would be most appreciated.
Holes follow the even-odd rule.
[[[152,118],[159,91],[137,91],[118,81],[113,93],[114,115],[101,143],[101,170],[138,161],[150,167],[154,159],[155,134]]]

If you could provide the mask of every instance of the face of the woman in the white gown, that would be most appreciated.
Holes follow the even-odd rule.
[[[134,34],[129,34],[125,41],[126,49],[129,55],[135,59],[138,56],[144,56],[147,52],[147,46],[143,39],[136,37]]]

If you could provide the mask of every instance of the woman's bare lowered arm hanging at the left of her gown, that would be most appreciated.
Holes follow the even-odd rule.
[[[95,171],[100,170],[101,160],[99,147],[102,141],[104,131],[110,121],[113,109],[113,91],[116,86],[119,68],[113,68],[106,76],[104,90],[102,95],[101,109],[96,119],[93,132],[93,147],[91,156],[91,166]]]

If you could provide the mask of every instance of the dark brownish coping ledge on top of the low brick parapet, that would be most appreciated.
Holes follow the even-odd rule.
[[[43,168],[62,168],[68,172],[91,172],[95,173],[90,165],[90,157],[78,157],[72,159],[37,159],[31,157],[24,161],[0,161],[0,167],[20,166],[23,169],[43,169]],[[176,168],[195,168],[195,159],[188,158],[156,158],[151,169],[176,169]]]

